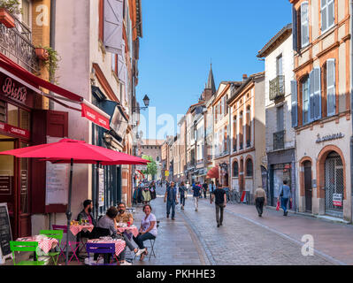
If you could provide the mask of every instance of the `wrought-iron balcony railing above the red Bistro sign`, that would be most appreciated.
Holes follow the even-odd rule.
[[[15,19],[16,27],[7,28],[0,24],[0,52],[31,73],[39,70],[35,46],[32,45],[31,31],[19,19]]]

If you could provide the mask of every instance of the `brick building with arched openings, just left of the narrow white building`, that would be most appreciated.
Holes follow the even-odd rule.
[[[229,107],[229,186],[241,195],[246,191],[249,203],[254,203],[253,195],[262,186],[261,168],[266,161],[265,73],[249,78],[243,75],[242,82],[234,83],[229,89],[226,104]]]

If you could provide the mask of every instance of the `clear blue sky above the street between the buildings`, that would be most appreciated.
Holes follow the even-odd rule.
[[[143,138],[161,135],[165,126],[170,134],[177,131],[177,115],[197,103],[211,62],[216,88],[222,80],[265,71],[257,51],[292,21],[291,11],[288,0],[142,0],[137,99],[143,104],[147,94],[157,118],[174,119],[174,126],[142,128],[150,132]],[[142,115],[149,125],[149,111]]]

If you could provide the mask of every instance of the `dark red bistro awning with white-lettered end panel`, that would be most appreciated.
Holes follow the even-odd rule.
[[[0,53],[0,72],[14,80],[18,80],[19,83],[23,84],[27,88],[34,90],[36,93],[42,96],[50,98],[51,100],[65,106],[66,108],[75,111],[81,111],[82,117],[87,118],[98,126],[103,126],[104,128],[110,130],[109,124],[111,117],[104,111],[100,110],[92,103],[89,103],[82,96],[78,96],[65,88],[60,88],[47,80],[42,80],[41,78],[35,76],[33,73],[30,73],[26,69],[22,68],[20,65],[12,62],[12,60],[10,60],[8,57],[5,57],[2,53]],[[46,94],[42,92],[40,88],[48,89],[58,96]],[[66,105],[59,100],[81,104],[81,109]]]

